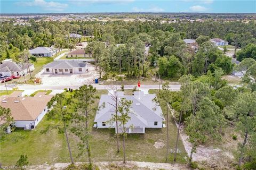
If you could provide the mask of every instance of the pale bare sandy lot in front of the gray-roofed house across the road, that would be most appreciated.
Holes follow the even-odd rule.
[[[42,79],[43,85],[82,85],[94,82],[99,77],[98,71],[95,71],[94,65],[88,63],[88,71],[82,74],[44,74],[43,70],[36,77]]]

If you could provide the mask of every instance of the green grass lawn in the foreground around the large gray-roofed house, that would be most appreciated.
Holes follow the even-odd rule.
[[[107,90],[98,90],[98,95],[107,94]],[[98,105],[99,100],[95,103]],[[122,160],[122,151],[116,153],[116,140],[114,137],[114,129],[94,129],[94,117],[90,120],[91,126],[91,151],[94,162]],[[56,125],[58,122],[46,120],[46,116],[42,122],[38,124],[35,130],[15,130],[8,134],[7,137],[0,142],[0,162],[3,166],[15,165],[21,154],[28,156],[29,164],[48,164],[70,162],[65,136],[59,134],[57,130],[49,131],[42,134],[41,131],[47,125]],[[170,161],[172,163],[175,138],[177,135],[177,127],[173,120],[170,120]],[[78,140],[73,134],[68,133],[70,146],[73,152],[75,162],[87,162],[86,154],[78,155]],[[122,141],[120,141],[122,142]],[[166,143],[166,128],[163,129],[146,129],[145,134],[128,134],[126,139],[126,156],[127,160],[135,160],[141,162],[165,162],[166,148],[156,148],[155,142]],[[186,151],[181,140],[179,141],[179,150],[177,163],[186,163]],[[122,148],[121,148],[122,150]]]

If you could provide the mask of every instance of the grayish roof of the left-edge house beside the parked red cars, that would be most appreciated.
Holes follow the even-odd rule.
[[[22,69],[22,65],[23,65],[23,69]],[[30,63],[29,66],[31,66],[31,65],[33,65],[33,64]],[[28,65],[26,63],[17,64],[17,63],[14,63],[14,62],[5,62],[5,63],[0,65],[1,72],[23,71],[27,68],[28,68]]]

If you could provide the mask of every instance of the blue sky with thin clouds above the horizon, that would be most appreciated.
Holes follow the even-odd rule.
[[[210,12],[256,13],[256,0],[1,0],[1,13]]]

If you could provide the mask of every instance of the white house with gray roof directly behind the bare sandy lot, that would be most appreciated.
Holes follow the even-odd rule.
[[[74,74],[87,71],[87,63],[78,61],[54,61],[44,66],[44,73]]]

